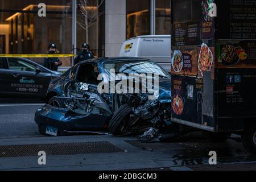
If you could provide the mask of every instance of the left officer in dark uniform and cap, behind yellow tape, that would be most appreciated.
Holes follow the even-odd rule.
[[[49,44],[49,54],[54,54],[56,52],[56,45]],[[58,67],[61,65],[61,61],[58,57],[46,57],[44,58],[44,67],[51,69],[52,71],[57,71]]]

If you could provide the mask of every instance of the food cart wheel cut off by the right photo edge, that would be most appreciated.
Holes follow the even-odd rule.
[[[250,123],[246,126],[242,134],[242,143],[247,152],[256,154],[256,123]]]

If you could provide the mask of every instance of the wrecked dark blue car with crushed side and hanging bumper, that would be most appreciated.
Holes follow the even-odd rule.
[[[40,133],[54,136],[109,130],[127,135],[159,128],[170,122],[170,78],[147,59],[82,61],[51,81],[47,104],[36,111],[35,122]]]

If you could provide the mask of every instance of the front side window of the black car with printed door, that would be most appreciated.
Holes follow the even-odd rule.
[[[34,72],[36,66],[34,64],[28,63],[22,59],[8,58],[9,69],[13,71],[28,71]]]

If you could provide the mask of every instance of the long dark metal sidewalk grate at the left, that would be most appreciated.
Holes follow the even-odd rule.
[[[121,148],[118,148],[109,142],[28,144],[18,146],[0,146],[0,158],[37,156],[39,151],[45,151],[47,155],[123,152]]]

